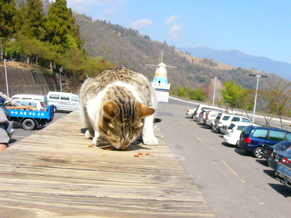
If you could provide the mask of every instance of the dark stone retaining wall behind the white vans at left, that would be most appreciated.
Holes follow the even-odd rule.
[[[15,67],[6,67],[6,71],[10,97],[20,93],[46,95],[49,91],[60,91],[58,78],[50,72]],[[4,66],[0,66],[0,92],[7,94]]]

